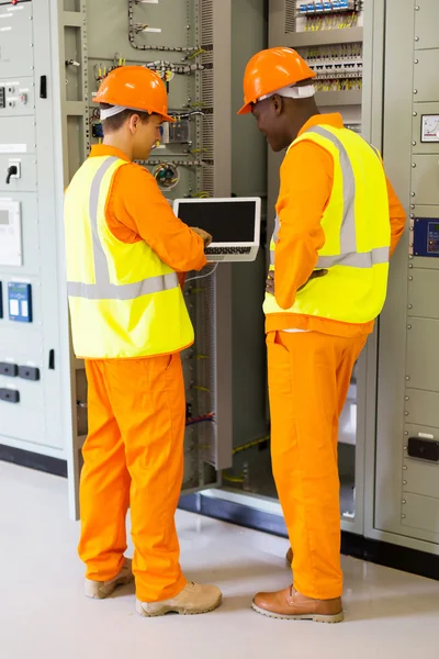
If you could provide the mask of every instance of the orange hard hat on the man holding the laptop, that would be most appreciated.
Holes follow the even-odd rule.
[[[164,121],[176,121],[168,115],[165,82],[155,71],[143,66],[121,66],[112,70],[93,100],[95,103],[159,114]]]

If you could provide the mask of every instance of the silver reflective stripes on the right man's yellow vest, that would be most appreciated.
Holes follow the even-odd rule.
[[[387,264],[390,260],[389,247],[376,247],[371,252],[357,253],[357,236],[356,236],[356,216],[354,216],[354,199],[356,199],[356,179],[353,168],[349,159],[348,153],[341,142],[326,129],[316,126],[307,131],[308,133],[317,133],[322,137],[330,139],[336,146],[340,155],[340,167],[342,172],[342,198],[344,198],[344,217],[340,230],[340,252],[337,256],[320,256],[316,268],[331,268],[334,266],[348,266],[352,268],[372,268],[380,264]],[[374,146],[371,147],[376,157],[380,159],[380,154]],[[275,217],[275,226],[272,241],[274,244],[279,238],[279,216]],[[274,250],[270,249],[270,264],[274,266]]]

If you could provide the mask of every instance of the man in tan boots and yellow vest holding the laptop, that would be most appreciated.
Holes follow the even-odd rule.
[[[95,101],[103,144],[66,192],[68,295],[74,348],[86,359],[89,434],[80,484],[86,595],[103,599],[135,579],[143,616],[205,613],[216,587],[188,582],[175,514],[183,478],[180,353],[193,343],[179,272],[200,270],[211,236],[175,216],[147,169],[167,92],[147,68],[112,71]],[[126,550],[131,509],[134,560]]]

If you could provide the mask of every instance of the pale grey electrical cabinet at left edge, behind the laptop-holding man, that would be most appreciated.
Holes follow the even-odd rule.
[[[0,4],[0,444],[64,459],[70,372],[49,369],[69,351],[57,21],[46,1]]]

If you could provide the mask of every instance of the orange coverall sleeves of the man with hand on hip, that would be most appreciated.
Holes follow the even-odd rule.
[[[275,247],[274,291],[281,309],[293,306],[297,290],[316,267],[325,244],[320,221],[334,182],[334,161],[320,146],[301,142],[285,156],[277,205],[281,221]],[[406,214],[386,179],[391,222],[391,256],[404,233]]]

